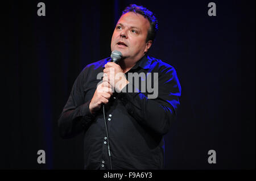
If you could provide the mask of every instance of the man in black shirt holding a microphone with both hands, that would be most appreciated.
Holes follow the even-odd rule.
[[[157,30],[158,22],[151,11],[130,5],[112,36],[112,51],[122,53],[119,64],[105,58],[87,65],[77,77],[60,115],[59,129],[63,138],[84,133],[85,169],[164,168],[163,136],[174,120],[181,87],[171,65],[147,56]],[[101,81],[97,75],[102,71]],[[139,85],[152,80],[147,75],[156,73],[157,79],[151,83],[158,85],[158,96],[149,99],[150,91],[141,91],[142,86],[127,79],[129,73],[146,75],[146,79],[140,77]]]

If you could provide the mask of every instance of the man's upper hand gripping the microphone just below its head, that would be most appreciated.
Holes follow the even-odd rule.
[[[105,65],[104,78],[102,80],[108,81],[112,87],[114,87],[117,92],[121,92],[123,87],[125,87],[129,81],[127,81],[122,68],[115,64],[114,62],[108,62]]]

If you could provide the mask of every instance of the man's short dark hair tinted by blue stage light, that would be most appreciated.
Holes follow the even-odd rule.
[[[148,21],[150,22],[150,28],[147,32],[146,42],[148,40],[152,40],[152,42],[154,42],[156,32],[158,31],[158,20],[153,15],[153,12],[146,9],[146,7],[137,6],[135,4],[127,6],[126,9],[123,11],[123,14],[126,14],[127,12],[135,12],[141,14],[142,16],[144,16],[144,18],[148,19]]]

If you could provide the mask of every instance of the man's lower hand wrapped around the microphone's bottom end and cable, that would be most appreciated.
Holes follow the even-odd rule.
[[[100,110],[101,104],[108,103],[112,94],[113,90],[109,82],[104,81],[100,83],[94,92],[92,100],[90,101],[90,113],[95,113],[96,111]]]

